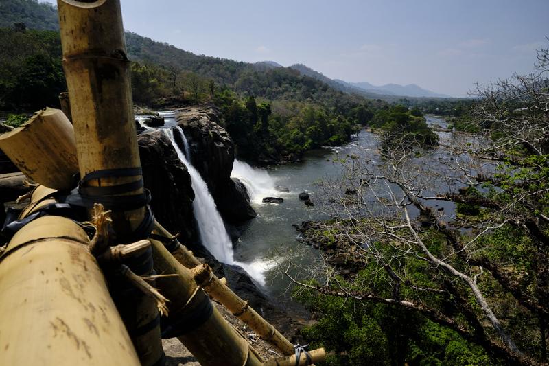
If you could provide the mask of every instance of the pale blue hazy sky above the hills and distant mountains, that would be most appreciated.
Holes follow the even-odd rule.
[[[56,3],[56,0],[48,0]],[[121,0],[126,30],[196,54],[461,96],[532,71],[549,0]]]

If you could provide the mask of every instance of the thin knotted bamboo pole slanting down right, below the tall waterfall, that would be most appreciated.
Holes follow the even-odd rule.
[[[159,222],[155,222],[154,227],[155,233],[165,238],[174,238]],[[248,306],[247,301],[233,293],[233,290],[226,286],[226,279],[223,282],[222,279],[215,276],[211,268],[207,264],[201,264],[189,249],[179,244],[178,248],[172,252],[172,255],[180,264],[192,270],[192,275],[198,286],[204,288],[211,297],[220,301],[227,310],[254,330],[261,339],[274,345],[285,355],[294,353],[294,345],[285,336],[253,310],[251,306]]]

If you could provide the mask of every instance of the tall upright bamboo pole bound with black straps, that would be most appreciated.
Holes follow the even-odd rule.
[[[130,87],[130,63],[119,0],[58,0],[63,67],[70,95],[80,176],[124,168],[141,168]],[[141,174],[94,179],[89,186],[116,186],[142,179]],[[143,187],[133,192],[143,194]],[[132,236],[145,218],[138,209],[113,209],[113,230],[119,242]],[[148,275],[152,273],[137,273]],[[122,319],[143,365],[162,363],[164,354],[159,312],[154,299],[113,290]]]

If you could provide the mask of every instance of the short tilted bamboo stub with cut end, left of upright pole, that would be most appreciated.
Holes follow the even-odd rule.
[[[19,128],[0,135],[0,149],[36,183],[73,188],[78,173],[74,131],[60,109],[45,108]]]

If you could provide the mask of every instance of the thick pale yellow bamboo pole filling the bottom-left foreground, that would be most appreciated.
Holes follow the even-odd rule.
[[[57,216],[12,238],[0,264],[0,365],[139,365],[88,243]]]

